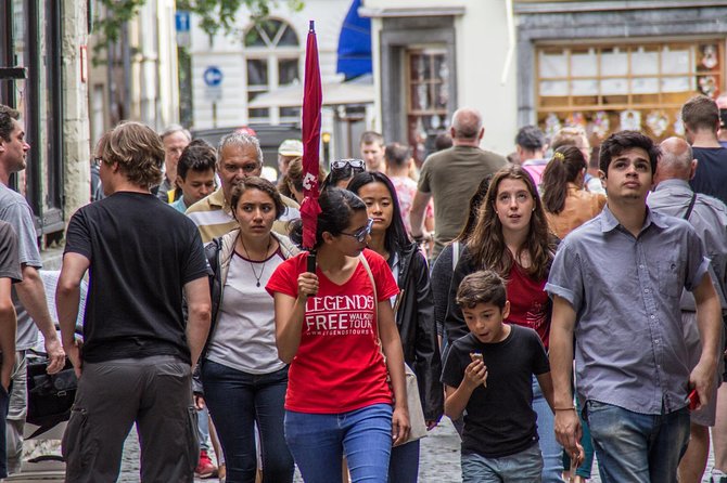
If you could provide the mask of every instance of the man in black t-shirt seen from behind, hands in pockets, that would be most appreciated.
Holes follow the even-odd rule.
[[[107,197],[71,219],[55,295],[63,345],[79,376],[63,436],[65,481],[115,481],[136,422],[142,481],[192,482],[199,448],[191,367],[211,314],[200,234],[150,193],[164,161],[152,129],[122,123],[97,156]],[[74,329],[87,271],[81,350]]]

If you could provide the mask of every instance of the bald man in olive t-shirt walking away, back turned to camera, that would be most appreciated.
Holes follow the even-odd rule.
[[[469,206],[482,179],[507,164],[505,157],[480,148],[485,128],[477,109],[457,109],[449,133],[452,147],[430,155],[422,166],[410,213],[411,236],[421,240],[424,210],[434,198],[434,258],[462,230],[468,216],[463,207]]]

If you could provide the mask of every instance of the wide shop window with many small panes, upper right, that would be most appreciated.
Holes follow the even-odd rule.
[[[578,125],[596,142],[622,129],[655,139],[683,135],[681,105],[719,95],[724,42],[540,45],[536,49],[537,118],[547,133]]]

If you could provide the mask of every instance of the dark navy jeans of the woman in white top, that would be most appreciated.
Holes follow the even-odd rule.
[[[257,469],[255,423],[260,433],[264,482],[292,482],[294,464],[283,432],[288,367],[253,375],[205,361],[205,402],[219,436],[227,482],[254,482]]]

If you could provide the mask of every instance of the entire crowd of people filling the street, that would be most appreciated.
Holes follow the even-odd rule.
[[[697,96],[685,139],[596,149],[528,126],[506,158],[465,107],[421,167],[366,132],[321,170],[315,257],[299,141],[266,180],[250,132],[123,122],[68,224],[59,339],[8,187],[30,146],[0,106],[0,478],[40,330],[49,373],[78,377],[68,482],[116,481],[133,425],[143,482],[417,482],[444,415],[464,482],[585,482],[595,458],[604,482],[701,482],[711,445],[727,482],[725,117]]]

